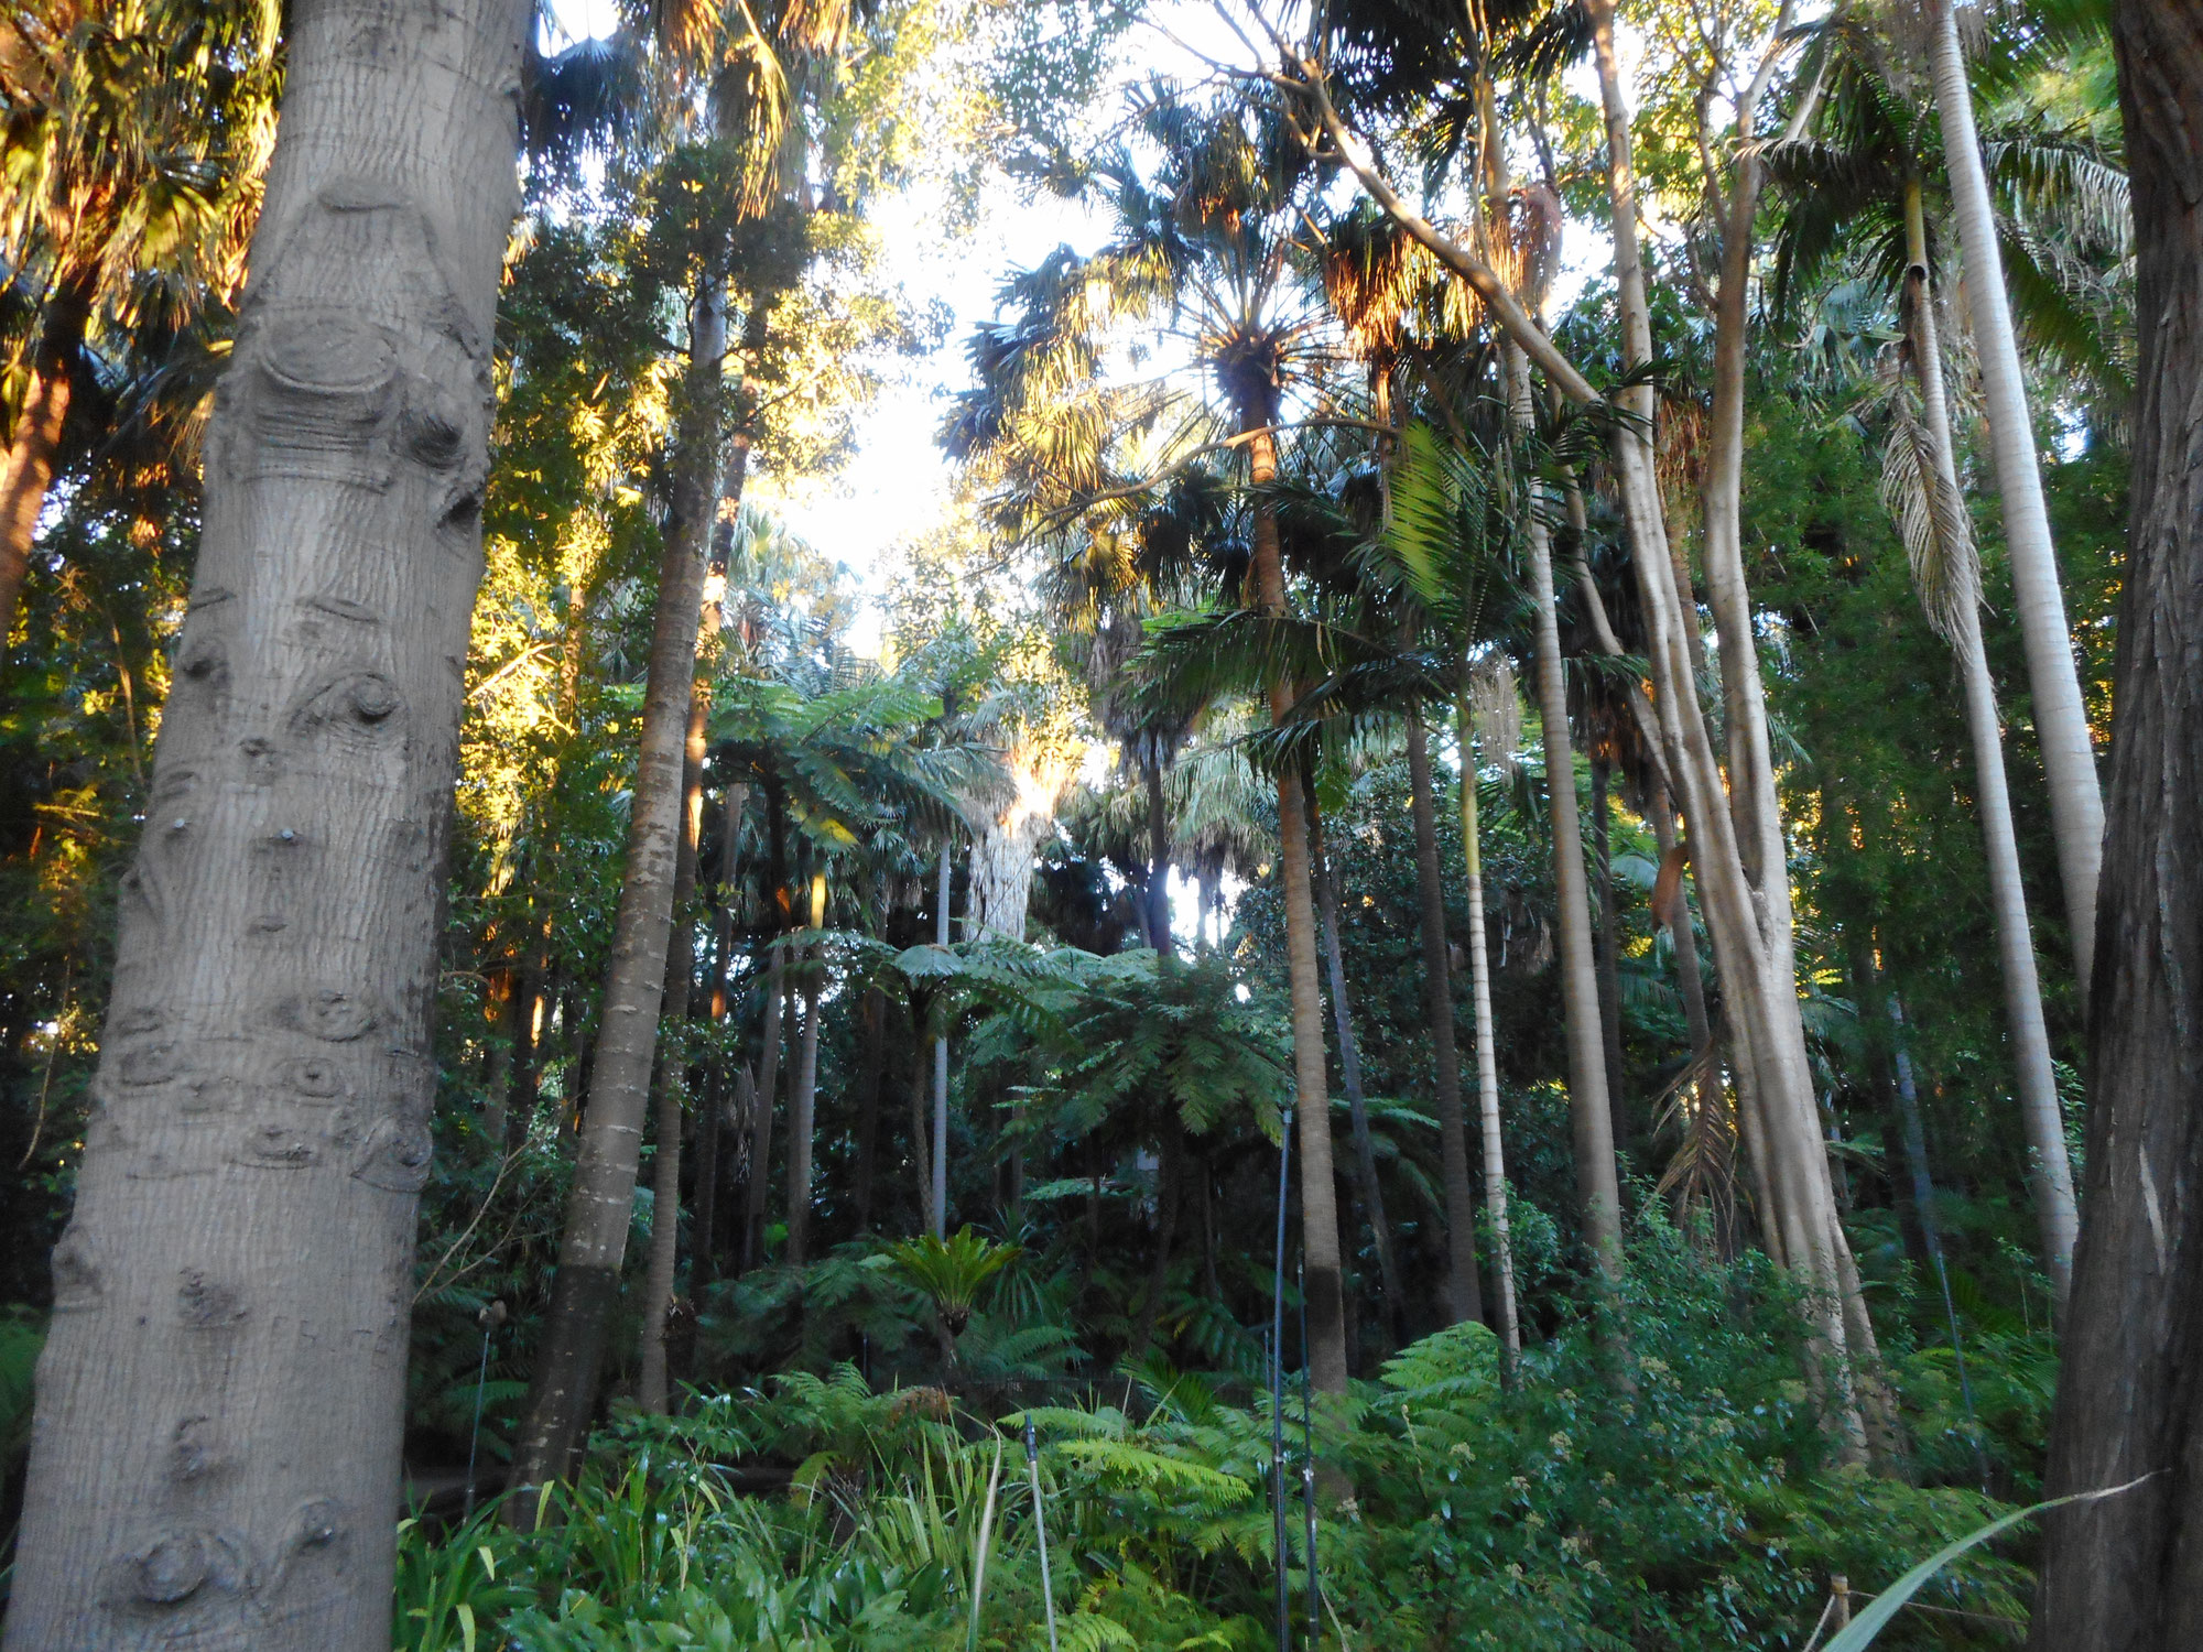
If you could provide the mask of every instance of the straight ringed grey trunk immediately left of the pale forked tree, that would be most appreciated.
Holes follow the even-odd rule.
[[[1507,401],[1529,430],[1529,361],[1500,346]],[[1615,1174],[1613,1110],[1606,1101],[1606,1051],[1599,1035],[1599,971],[1591,945],[1591,890],[1584,830],[1575,813],[1575,751],[1569,747],[1569,685],[1553,612],[1553,544],[1544,515],[1529,511],[1529,582],[1538,610],[1538,720],[1544,725],[1544,795],[1553,826],[1553,890],[1560,905],[1560,1000],[1569,1026],[1569,1121],[1575,1137],[1575,1196],[1584,1203],[1584,1245],[1608,1280],[1621,1273],[1621,1183]]]

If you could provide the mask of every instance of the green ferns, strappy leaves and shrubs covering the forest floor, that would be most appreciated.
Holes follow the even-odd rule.
[[[1795,1308],[1762,1260],[1723,1267],[1648,1222],[1624,1302],[1527,1350],[1513,1381],[1483,1326],[1456,1326],[1313,1419],[1289,1385],[1295,1634],[1304,1441],[1320,1643],[1342,1650],[1800,1648],[1833,1577],[1873,1595],[1996,1515],[1930,1485],[1983,1460],[1947,1438],[1939,1350],[1892,1350],[1910,1478],[1835,1460]],[[408,1524],[399,1645],[1044,1648],[1027,1416],[1057,1645],[1273,1645],[1267,1394],[1227,1403],[1229,1383],[1163,1366],[1022,1412],[954,1388],[875,1388],[844,1363],[623,1416],[535,1533],[498,1507],[434,1537]],[[1877,1645],[2009,1645],[2025,1597],[2025,1566],[1976,1553]]]

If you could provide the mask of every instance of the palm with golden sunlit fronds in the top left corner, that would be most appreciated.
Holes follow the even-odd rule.
[[[275,139],[278,9],[55,0],[0,15],[0,267],[29,297],[0,458],[0,634],[93,355],[227,306]]]

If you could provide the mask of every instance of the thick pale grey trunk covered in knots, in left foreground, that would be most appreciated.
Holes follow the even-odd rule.
[[[522,9],[291,24],[53,1253],[9,1652],[390,1645]]]

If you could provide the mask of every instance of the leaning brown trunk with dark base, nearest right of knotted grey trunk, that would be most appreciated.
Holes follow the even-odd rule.
[[[513,1485],[564,1478],[588,1432],[604,1341],[619,1300],[619,1271],[634,1220],[650,1073],[656,1064],[665,949],[674,921],[674,870],[681,859],[681,769],[696,683],[696,623],[705,548],[718,485],[720,361],[727,355],[723,278],[696,275],[690,302],[690,366],[683,383],[679,474],[672,524],[659,559],[650,634],[650,683],[628,813],[628,859],[604,982],[604,1022],[590,1075],[588,1119],[575,1159],[573,1194],[551,1313],[538,1352],[529,1416],[513,1454]],[[535,1500],[511,1504],[524,1522]]]

